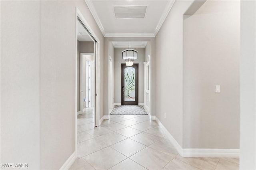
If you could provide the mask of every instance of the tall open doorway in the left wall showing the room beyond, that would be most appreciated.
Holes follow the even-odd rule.
[[[98,126],[97,113],[97,41],[82,20],[77,18],[77,108],[78,125],[90,122]],[[79,111],[80,110],[80,111]],[[78,120],[79,119],[79,120]]]

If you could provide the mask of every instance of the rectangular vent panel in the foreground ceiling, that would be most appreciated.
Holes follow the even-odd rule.
[[[147,6],[114,6],[116,18],[145,18]]]

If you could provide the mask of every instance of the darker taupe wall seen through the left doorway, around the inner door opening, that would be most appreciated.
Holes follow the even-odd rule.
[[[94,42],[77,42],[77,111],[80,111],[80,53],[94,53]]]

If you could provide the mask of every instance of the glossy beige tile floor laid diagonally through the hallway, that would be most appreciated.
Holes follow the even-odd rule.
[[[239,158],[183,158],[147,115],[110,115],[94,127],[78,115],[77,156],[70,170],[238,170]]]

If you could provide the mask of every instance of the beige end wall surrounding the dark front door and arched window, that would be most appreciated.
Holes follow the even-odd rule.
[[[115,48],[114,49],[114,103],[121,103],[121,63],[125,63],[122,59],[122,51],[127,48]],[[138,59],[134,60],[134,63],[139,64],[139,89],[138,99],[139,103],[144,103],[144,61],[145,61],[145,48],[133,48],[138,51]]]

